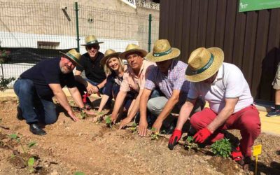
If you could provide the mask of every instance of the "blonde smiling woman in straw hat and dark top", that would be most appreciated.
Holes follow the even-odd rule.
[[[120,91],[120,83],[123,81],[123,74],[125,71],[125,65],[123,64],[123,60],[118,57],[120,52],[116,52],[115,50],[109,49],[106,50],[105,56],[101,59],[102,65],[104,65],[104,71],[107,76],[104,95],[102,96],[102,100],[99,105],[98,112],[101,112],[108,100],[110,98],[115,98]],[[128,94],[125,99],[124,108],[127,111],[130,108],[130,104],[132,103],[134,95]]]

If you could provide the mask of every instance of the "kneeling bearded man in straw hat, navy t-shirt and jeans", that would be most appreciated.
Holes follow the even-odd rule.
[[[13,86],[20,101],[17,117],[19,120],[26,120],[33,134],[45,134],[38,125],[39,122],[46,125],[56,122],[57,112],[52,102],[54,96],[69,116],[74,121],[78,120],[62,90],[65,85],[80,109],[85,110],[73,75],[73,69],[79,64],[81,55],[75,49],[61,53],[62,57],[44,59],[23,72]]]

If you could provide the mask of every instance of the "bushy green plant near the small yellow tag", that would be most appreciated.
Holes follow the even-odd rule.
[[[232,144],[229,139],[221,139],[215,141],[214,144],[211,145],[211,151],[218,156],[223,158],[228,158],[230,156],[232,149]]]

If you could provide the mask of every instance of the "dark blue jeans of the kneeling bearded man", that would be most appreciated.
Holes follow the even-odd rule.
[[[57,121],[57,112],[52,99],[41,99],[32,80],[21,78],[16,80],[13,90],[18,95],[22,116],[27,123],[52,124]]]

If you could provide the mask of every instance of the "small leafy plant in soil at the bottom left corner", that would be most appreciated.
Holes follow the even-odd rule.
[[[18,134],[10,134],[10,139],[17,141],[18,144],[20,144],[23,154],[25,154],[25,155],[28,155],[27,152],[29,151],[29,148],[36,145],[36,141],[31,141],[29,144],[27,144],[27,149],[25,149],[25,147],[22,145],[22,142],[20,141],[20,137],[18,137]],[[31,156],[29,158],[25,158],[25,157],[21,156],[20,154],[13,154],[11,156],[11,158],[15,158],[15,157],[19,157],[20,160],[23,160],[22,162],[24,163],[25,167],[27,167],[27,169],[30,173],[34,173],[36,171],[34,169],[35,158],[33,156]]]

